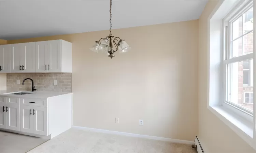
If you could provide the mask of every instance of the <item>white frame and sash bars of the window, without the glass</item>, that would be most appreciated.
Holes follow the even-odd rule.
[[[238,5],[236,7],[233,8],[232,11],[230,11],[230,13],[223,19],[223,35],[224,35],[224,43],[223,43],[223,56],[224,56],[224,76],[223,76],[223,87],[224,87],[224,95],[223,95],[223,103],[222,105],[224,107],[228,107],[229,109],[233,109],[233,108],[236,108],[236,113],[238,115],[241,115],[243,116],[243,114],[247,114],[247,115],[250,115],[253,117],[253,111],[249,110],[249,109],[246,109],[245,107],[242,107],[238,104],[235,104],[235,103],[232,103],[231,101],[228,100],[228,94],[230,91],[228,91],[228,89],[230,87],[228,87],[228,64],[231,64],[231,63],[236,63],[236,62],[241,62],[241,61],[247,61],[247,60],[251,60],[253,61],[253,53],[250,53],[250,54],[245,54],[245,55],[241,55],[241,56],[238,56],[238,57],[233,57],[232,58],[232,51],[231,51],[231,31],[232,31],[232,22],[233,21],[236,21],[243,13],[245,13],[246,11],[248,11],[251,7],[253,6],[253,1],[248,1],[248,2],[244,2],[244,5],[241,6],[241,5]],[[243,31],[243,29],[242,29]],[[237,40],[239,38],[242,38],[243,36],[245,36],[246,34],[248,33],[251,33],[253,30],[251,31],[248,31],[246,32],[245,34],[242,34],[241,36],[239,36],[238,38],[235,38],[233,39],[232,41],[234,40]],[[254,40],[255,41],[255,40]],[[253,70],[252,70],[253,71]],[[250,77],[253,75],[250,74]],[[253,79],[253,76],[252,78]],[[251,82],[252,80],[250,80]],[[233,108],[230,108],[230,107],[233,107]]]

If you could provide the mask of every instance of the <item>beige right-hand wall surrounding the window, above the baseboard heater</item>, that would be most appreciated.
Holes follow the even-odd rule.
[[[207,19],[218,1],[209,1],[199,19],[199,138],[210,153],[256,153],[207,109]]]

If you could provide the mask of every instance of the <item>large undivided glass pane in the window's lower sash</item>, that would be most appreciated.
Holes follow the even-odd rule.
[[[253,60],[228,64],[228,101],[253,111]]]

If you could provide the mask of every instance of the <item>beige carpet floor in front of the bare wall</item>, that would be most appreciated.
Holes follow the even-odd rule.
[[[29,153],[197,153],[191,145],[70,129]]]

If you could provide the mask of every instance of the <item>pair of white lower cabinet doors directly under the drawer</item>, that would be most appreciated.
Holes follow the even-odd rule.
[[[20,131],[48,135],[47,107],[20,105]]]

